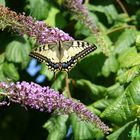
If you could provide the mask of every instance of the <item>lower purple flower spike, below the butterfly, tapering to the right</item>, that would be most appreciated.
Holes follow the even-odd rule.
[[[21,104],[25,107],[38,109],[47,112],[60,112],[61,114],[76,113],[82,120],[95,123],[104,133],[110,131],[95,114],[90,112],[85,105],[80,102],[73,101],[59,94],[49,87],[41,87],[33,82],[17,82],[16,84],[7,84],[0,82],[0,89],[8,97],[9,102]],[[4,96],[4,94],[0,94]],[[3,101],[2,104],[5,104]],[[8,103],[7,103],[8,104]]]

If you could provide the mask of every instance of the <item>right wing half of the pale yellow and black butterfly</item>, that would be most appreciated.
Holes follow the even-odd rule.
[[[85,41],[62,42],[61,67],[62,70],[70,70],[78,60],[94,51],[97,47]]]

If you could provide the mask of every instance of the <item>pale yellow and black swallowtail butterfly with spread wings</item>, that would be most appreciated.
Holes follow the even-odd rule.
[[[34,48],[31,57],[46,63],[52,71],[69,71],[77,61],[96,50],[94,44],[85,41],[58,41]]]

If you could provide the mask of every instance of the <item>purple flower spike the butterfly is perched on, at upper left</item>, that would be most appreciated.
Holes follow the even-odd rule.
[[[0,5],[0,29],[9,28],[20,35],[28,35],[36,39],[39,45],[58,41],[73,40],[69,34],[58,28],[49,27],[44,21],[37,21],[31,16],[25,14],[17,14]]]

